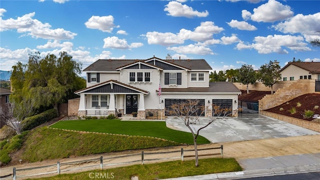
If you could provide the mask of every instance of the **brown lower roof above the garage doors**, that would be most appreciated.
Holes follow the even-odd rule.
[[[209,87],[162,88],[162,93],[241,93],[231,82],[210,82]]]

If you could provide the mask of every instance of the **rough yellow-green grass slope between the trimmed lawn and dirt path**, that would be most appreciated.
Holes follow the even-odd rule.
[[[22,159],[28,162],[112,151],[179,145],[150,137],[69,132],[39,127],[24,142]]]

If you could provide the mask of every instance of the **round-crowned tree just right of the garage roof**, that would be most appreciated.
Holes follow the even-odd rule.
[[[242,65],[238,69],[238,81],[246,85],[246,93],[249,94],[249,84],[254,84],[257,80],[256,73],[251,65]]]

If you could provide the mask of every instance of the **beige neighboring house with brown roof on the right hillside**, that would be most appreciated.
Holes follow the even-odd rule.
[[[289,62],[279,72],[281,81],[320,80],[320,62]]]

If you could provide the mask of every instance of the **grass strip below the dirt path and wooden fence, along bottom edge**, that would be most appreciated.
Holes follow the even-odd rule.
[[[40,179],[92,179],[95,173],[97,173],[97,177],[104,177],[104,179],[130,179],[131,176],[135,175],[138,176],[140,180],[150,180],[220,172],[232,172],[240,170],[242,170],[241,166],[233,158],[208,158],[199,159],[198,167],[194,166],[194,160],[183,162],[170,161],[154,164],[131,165],[106,170],[92,170],[74,174],[60,174]]]

